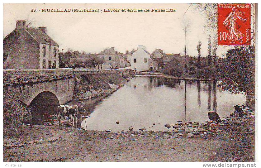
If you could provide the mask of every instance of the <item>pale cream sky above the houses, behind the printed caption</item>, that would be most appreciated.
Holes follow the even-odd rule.
[[[162,49],[164,53],[184,54],[183,19],[191,21],[187,33],[187,55],[197,56],[197,43],[202,42],[202,57],[207,56],[208,33],[204,31],[205,14],[189,3],[4,3],[3,36],[16,27],[16,20],[33,20],[31,26],[46,26],[47,34],[59,44],[59,50],[99,53],[105,47],[125,53],[146,47],[150,53]],[[189,7],[189,8],[188,8]],[[99,12],[31,12],[37,8],[99,9]],[[175,9],[176,12],[102,12],[105,9]],[[187,10],[188,9],[188,10]],[[187,10],[187,12],[186,12]],[[185,13],[186,12],[186,13]],[[184,15],[185,13],[185,15]],[[227,48],[218,47],[217,55]]]

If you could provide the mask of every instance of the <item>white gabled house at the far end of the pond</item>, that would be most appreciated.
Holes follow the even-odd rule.
[[[145,49],[145,46],[138,46],[138,49],[131,55],[131,69],[138,71],[158,70],[158,63],[151,57],[152,55]]]

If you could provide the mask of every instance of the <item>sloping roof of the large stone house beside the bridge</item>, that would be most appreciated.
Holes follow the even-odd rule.
[[[26,31],[33,36],[37,42],[43,43],[43,44],[49,44],[49,41],[51,41],[52,46],[59,46],[50,36],[45,34],[40,29],[32,28],[32,27],[26,27]]]

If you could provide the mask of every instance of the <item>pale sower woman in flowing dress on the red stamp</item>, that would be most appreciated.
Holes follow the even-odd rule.
[[[232,12],[228,15],[228,17],[223,22],[223,25],[229,27],[229,36],[228,40],[231,40],[230,43],[235,43],[235,41],[240,41],[240,43],[243,42],[243,37],[245,36],[243,33],[241,33],[239,30],[237,30],[236,20],[239,18],[241,21],[245,22],[246,19],[243,19],[240,17],[245,12],[240,12],[236,7],[232,8]]]

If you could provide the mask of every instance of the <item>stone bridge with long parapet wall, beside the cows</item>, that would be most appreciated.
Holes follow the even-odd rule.
[[[3,88],[19,94],[27,105],[32,102],[61,105],[73,98],[76,76],[104,73],[122,73],[122,70],[3,70]]]

